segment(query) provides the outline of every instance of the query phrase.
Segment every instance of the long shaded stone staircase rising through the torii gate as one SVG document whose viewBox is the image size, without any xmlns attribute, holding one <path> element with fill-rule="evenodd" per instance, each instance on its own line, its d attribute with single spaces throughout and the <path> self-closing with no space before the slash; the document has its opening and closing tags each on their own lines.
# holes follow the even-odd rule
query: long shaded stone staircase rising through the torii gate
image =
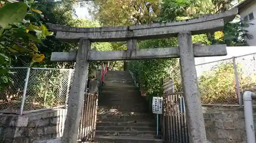
<svg viewBox="0 0 256 143">
<path fill-rule="evenodd" d="M 129 72 L 108 71 L 98 102 L 94 142 L 160 143 L 156 121 Z"/>
</svg>

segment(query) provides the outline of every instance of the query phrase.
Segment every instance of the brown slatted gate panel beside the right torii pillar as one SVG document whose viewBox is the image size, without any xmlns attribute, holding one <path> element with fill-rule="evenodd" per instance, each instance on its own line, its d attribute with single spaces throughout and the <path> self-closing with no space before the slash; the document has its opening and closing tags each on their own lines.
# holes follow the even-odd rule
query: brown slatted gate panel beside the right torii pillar
<svg viewBox="0 0 256 143">
<path fill-rule="evenodd" d="M 163 95 L 163 114 L 161 119 L 165 142 L 189 142 L 185 103 L 182 93 Z"/>
</svg>

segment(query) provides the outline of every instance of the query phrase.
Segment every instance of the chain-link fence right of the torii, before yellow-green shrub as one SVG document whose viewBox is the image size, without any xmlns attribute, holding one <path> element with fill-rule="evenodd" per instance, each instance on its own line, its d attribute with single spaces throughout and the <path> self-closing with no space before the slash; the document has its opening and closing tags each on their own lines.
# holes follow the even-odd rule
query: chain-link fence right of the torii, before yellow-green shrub
<svg viewBox="0 0 256 143">
<path fill-rule="evenodd" d="M 245 90 L 256 88 L 256 53 L 197 65 L 203 104 L 240 104 Z"/>
</svg>

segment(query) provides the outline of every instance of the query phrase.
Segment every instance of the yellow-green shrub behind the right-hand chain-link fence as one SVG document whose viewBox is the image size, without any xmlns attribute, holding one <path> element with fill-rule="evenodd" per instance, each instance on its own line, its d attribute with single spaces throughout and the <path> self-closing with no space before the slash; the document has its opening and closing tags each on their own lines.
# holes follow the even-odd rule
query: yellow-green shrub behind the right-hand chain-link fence
<svg viewBox="0 0 256 143">
<path fill-rule="evenodd" d="M 246 89 L 255 84 L 253 76 L 245 75 L 237 64 L 240 89 Z M 221 63 L 211 68 L 199 78 L 199 89 L 202 103 L 235 104 L 238 102 L 234 69 L 231 62 Z"/>
</svg>

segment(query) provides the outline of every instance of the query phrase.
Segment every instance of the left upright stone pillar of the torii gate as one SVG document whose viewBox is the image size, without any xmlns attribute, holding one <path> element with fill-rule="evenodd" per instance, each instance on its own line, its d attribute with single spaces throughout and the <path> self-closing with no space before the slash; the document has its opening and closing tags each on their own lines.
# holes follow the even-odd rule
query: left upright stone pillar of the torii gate
<svg viewBox="0 0 256 143">
<path fill-rule="evenodd" d="M 62 143 L 77 142 L 78 128 L 80 124 L 84 91 L 87 87 L 88 67 L 87 55 L 91 49 L 91 42 L 88 39 L 80 39 L 77 50 L 74 81 L 69 95 L 69 105 L 65 128 L 62 136 Z"/>
</svg>

